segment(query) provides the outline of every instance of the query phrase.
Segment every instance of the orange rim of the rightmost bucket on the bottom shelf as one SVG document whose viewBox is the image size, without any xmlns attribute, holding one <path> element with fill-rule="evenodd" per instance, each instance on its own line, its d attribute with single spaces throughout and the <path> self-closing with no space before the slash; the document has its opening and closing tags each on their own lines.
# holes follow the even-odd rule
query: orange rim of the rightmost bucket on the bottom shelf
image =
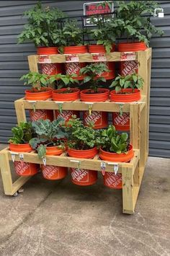
<svg viewBox="0 0 170 256">
<path fill-rule="evenodd" d="M 111 153 L 104 151 L 103 149 L 100 149 L 99 151 L 99 157 L 102 160 L 107 160 L 110 162 L 129 162 L 134 156 L 133 146 L 129 146 L 129 150 L 126 153 Z"/>
</svg>

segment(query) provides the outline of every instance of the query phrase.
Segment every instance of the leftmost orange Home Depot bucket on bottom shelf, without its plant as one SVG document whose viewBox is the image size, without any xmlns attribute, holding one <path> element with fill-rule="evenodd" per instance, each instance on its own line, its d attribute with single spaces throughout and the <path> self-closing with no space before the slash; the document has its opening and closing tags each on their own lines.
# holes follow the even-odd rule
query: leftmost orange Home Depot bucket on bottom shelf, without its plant
<svg viewBox="0 0 170 256">
<path fill-rule="evenodd" d="M 9 144 L 9 150 L 13 152 L 30 152 L 30 144 Z M 19 176 L 33 176 L 38 172 L 39 164 L 32 164 L 23 161 L 14 161 L 14 169 Z"/>
</svg>

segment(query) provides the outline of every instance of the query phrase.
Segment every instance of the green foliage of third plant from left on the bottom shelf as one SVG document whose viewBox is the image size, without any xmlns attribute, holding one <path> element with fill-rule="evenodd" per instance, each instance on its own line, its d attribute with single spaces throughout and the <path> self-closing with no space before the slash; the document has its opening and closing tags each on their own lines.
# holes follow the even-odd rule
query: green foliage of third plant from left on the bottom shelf
<svg viewBox="0 0 170 256">
<path fill-rule="evenodd" d="M 84 126 L 76 116 L 72 116 L 66 124 L 68 133 L 68 148 L 92 149 L 96 144 L 96 133 L 92 126 Z"/>
</svg>

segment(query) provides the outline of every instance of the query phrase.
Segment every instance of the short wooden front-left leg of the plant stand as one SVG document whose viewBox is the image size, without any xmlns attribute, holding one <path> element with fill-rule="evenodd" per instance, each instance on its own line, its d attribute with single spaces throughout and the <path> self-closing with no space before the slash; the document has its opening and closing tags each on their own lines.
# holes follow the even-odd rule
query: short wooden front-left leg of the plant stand
<svg viewBox="0 0 170 256">
<path fill-rule="evenodd" d="M 1 177 L 5 195 L 12 195 L 12 175 L 9 166 L 8 151 L 0 152 Z"/>
</svg>

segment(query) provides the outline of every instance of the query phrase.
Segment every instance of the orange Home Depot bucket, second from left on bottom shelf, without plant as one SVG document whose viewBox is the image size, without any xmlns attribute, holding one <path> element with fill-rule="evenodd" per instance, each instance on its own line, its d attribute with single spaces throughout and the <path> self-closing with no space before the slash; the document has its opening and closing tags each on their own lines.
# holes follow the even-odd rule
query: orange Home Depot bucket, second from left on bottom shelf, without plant
<svg viewBox="0 0 170 256">
<path fill-rule="evenodd" d="M 57 146 L 47 146 L 47 156 L 59 156 L 63 153 L 62 149 L 58 149 Z M 58 167 L 54 165 L 41 165 L 42 175 L 47 180 L 61 180 L 68 174 L 66 167 Z"/>
</svg>

